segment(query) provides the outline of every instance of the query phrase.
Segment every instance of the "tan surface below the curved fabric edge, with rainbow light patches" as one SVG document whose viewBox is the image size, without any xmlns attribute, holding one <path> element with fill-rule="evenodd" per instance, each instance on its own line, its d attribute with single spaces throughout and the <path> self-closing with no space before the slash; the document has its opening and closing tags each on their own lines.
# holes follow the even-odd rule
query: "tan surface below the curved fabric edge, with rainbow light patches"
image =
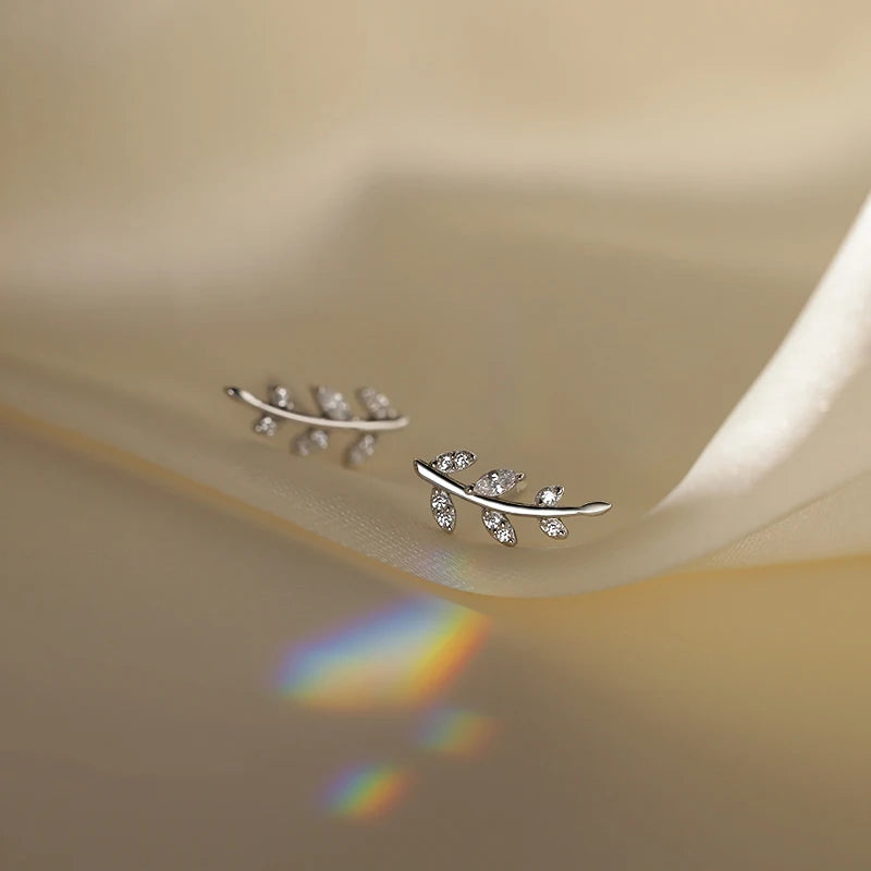
<svg viewBox="0 0 871 871">
<path fill-rule="evenodd" d="M 4 871 L 871 866 L 871 560 L 463 596 L 106 453 L 0 428 Z M 408 792 L 336 818 L 367 762 Z"/>
</svg>

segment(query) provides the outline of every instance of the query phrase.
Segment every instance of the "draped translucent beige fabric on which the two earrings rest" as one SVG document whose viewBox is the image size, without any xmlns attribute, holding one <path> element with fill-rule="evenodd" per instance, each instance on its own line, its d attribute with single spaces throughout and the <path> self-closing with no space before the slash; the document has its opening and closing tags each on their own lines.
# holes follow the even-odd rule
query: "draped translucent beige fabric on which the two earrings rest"
<svg viewBox="0 0 871 871">
<path fill-rule="evenodd" d="M 65 15 L 2 13 L 4 403 L 478 592 L 868 550 L 867 217 L 772 359 L 868 187 L 867 4 Z M 274 376 L 413 427 L 287 457 L 220 392 Z M 450 447 L 615 508 L 446 539 Z"/>
</svg>

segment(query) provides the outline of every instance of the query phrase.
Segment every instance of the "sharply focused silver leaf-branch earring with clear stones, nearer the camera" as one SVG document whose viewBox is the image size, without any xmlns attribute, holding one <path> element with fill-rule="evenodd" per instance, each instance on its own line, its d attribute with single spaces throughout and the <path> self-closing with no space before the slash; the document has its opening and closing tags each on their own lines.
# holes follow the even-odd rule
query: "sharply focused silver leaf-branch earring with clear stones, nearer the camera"
<svg viewBox="0 0 871 871">
<path fill-rule="evenodd" d="M 513 490 L 526 478 L 522 471 L 512 469 L 491 469 L 474 484 L 461 483 L 447 475 L 450 471 L 468 468 L 477 458 L 471 451 L 449 451 L 439 454 L 431 463 L 415 459 L 415 471 L 432 484 L 430 494 L 432 516 L 445 532 L 453 532 L 456 526 L 456 507 L 451 499 L 452 494 L 480 505 L 481 520 L 487 531 L 506 548 L 513 548 L 517 543 L 517 533 L 507 518 L 508 514 L 537 517 L 541 531 L 549 538 L 559 539 L 568 536 L 561 517 L 575 514 L 596 516 L 611 510 L 610 502 L 588 502 L 579 507 L 559 507 L 556 503 L 563 496 L 563 488 L 560 484 L 551 484 L 539 490 L 531 505 L 503 500 L 500 496 Z"/>
</svg>

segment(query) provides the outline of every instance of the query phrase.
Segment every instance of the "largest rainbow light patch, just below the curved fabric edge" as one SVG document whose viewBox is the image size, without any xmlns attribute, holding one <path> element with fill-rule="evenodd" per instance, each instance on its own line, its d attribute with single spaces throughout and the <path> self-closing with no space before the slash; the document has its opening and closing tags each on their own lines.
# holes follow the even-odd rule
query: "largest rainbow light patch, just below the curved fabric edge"
<svg viewBox="0 0 871 871">
<path fill-rule="evenodd" d="M 279 689 L 318 710 L 417 708 L 463 671 L 488 626 L 487 617 L 452 602 L 406 600 L 295 647 Z"/>
</svg>

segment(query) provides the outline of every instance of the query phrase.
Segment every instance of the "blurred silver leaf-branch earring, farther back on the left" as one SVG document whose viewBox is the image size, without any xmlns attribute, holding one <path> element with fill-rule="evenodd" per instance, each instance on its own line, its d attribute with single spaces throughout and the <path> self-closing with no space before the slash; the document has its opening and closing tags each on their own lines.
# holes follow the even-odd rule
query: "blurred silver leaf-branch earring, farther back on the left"
<svg viewBox="0 0 871 871">
<path fill-rule="evenodd" d="M 331 429 L 359 433 L 359 438 L 345 451 L 347 466 L 359 466 L 375 453 L 378 433 L 403 429 L 409 422 L 408 418 L 397 414 L 390 400 L 375 388 L 357 390 L 357 398 L 366 409 L 365 418 L 356 417 L 347 400 L 338 390 L 330 388 L 311 388 L 320 415 L 295 410 L 291 391 L 283 384 L 273 384 L 269 388 L 268 402 L 258 400 L 242 388 L 224 388 L 224 391 L 232 400 L 244 402 L 260 412 L 260 417 L 254 422 L 254 431 L 260 436 L 269 438 L 274 436 L 282 420 L 305 424 L 307 429 L 291 442 L 291 450 L 299 456 L 308 456 L 315 451 L 327 447 L 330 443 Z"/>
</svg>

